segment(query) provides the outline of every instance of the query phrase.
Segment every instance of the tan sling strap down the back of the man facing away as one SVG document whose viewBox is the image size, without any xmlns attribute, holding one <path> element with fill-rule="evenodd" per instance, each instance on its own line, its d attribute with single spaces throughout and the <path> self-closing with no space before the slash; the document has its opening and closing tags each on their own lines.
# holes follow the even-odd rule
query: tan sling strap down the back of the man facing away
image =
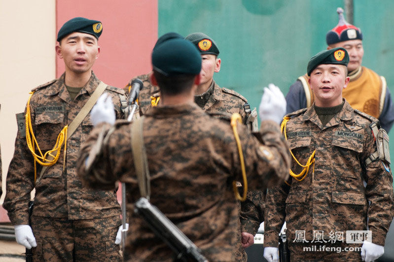
<svg viewBox="0 0 394 262">
<path fill-rule="evenodd" d="M 143 119 L 144 117 L 142 116 L 141 118 L 134 120 L 131 125 L 131 150 L 133 153 L 134 167 L 136 169 L 141 196 L 149 199 L 150 176 L 145 143 L 143 143 Z"/>
</svg>

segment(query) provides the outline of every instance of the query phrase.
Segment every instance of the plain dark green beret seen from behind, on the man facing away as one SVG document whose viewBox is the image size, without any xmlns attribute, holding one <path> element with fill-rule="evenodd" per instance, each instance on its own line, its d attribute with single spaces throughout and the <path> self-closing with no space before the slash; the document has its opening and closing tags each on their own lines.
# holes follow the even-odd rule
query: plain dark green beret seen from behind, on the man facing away
<svg viewBox="0 0 394 262">
<path fill-rule="evenodd" d="M 201 55 L 196 47 L 183 38 L 174 38 L 158 44 L 152 52 L 153 69 L 163 75 L 198 75 Z"/>
</svg>

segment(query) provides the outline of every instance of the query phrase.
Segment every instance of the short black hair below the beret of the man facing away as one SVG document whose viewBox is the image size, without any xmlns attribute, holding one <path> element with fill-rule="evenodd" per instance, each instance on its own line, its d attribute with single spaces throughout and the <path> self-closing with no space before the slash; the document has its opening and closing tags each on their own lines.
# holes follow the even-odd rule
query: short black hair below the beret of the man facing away
<svg viewBox="0 0 394 262">
<path fill-rule="evenodd" d="M 176 74 L 163 75 L 153 69 L 153 75 L 156 78 L 157 84 L 160 87 L 160 92 L 163 95 L 178 95 L 187 92 L 191 89 L 196 75 L 190 74 Z"/>
</svg>

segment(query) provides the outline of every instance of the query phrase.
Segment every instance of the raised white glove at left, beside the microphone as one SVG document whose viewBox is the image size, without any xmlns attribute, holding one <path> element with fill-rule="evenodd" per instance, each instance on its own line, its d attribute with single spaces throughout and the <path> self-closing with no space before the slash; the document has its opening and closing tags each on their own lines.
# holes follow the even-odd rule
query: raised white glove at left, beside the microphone
<svg viewBox="0 0 394 262">
<path fill-rule="evenodd" d="M 116 115 L 112 104 L 112 98 L 108 94 L 102 94 L 90 112 L 90 119 L 94 126 L 105 122 L 113 125 L 115 123 Z"/>
</svg>

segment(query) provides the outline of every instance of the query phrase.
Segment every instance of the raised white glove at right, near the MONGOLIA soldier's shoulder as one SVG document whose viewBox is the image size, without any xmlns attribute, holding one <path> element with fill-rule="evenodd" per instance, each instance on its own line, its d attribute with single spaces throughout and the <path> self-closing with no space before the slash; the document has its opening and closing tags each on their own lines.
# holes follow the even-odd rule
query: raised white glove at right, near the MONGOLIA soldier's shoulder
<svg viewBox="0 0 394 262">
<path fill-rule="evenodd" d="M 264 87 L 258 114 L 261 121 L 269 119 L 278 124 L 282 123 L 283 116 L 286 114 L 286 99 L 278 86 L 269 84 L 268 88 Z"/>
</svg>

